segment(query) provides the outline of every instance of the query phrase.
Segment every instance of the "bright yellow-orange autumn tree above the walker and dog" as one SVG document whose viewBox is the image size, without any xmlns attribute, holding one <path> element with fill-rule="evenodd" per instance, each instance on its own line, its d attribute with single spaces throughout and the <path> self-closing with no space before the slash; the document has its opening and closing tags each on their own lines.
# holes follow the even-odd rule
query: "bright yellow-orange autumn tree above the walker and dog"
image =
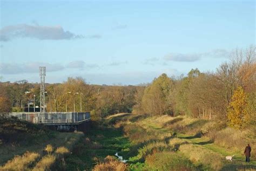
<svg viewBox="0 0 256 171">
<path fill-rule="evenodd" d="M 235 90 L 230 105 L 228 106 L 227 118 L 229 125 L 240 129 L 244 129 L 248 125 L 250 109 L 248 106 L 247 94 L 241 86 Z"/>
</svg>

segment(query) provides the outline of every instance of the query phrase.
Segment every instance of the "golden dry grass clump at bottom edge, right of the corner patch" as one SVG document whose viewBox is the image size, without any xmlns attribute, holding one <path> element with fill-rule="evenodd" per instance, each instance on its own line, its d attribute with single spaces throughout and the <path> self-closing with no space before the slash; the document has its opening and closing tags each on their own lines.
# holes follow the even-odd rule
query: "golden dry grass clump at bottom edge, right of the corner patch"
<svg viewBox="0 0 256 171">
<path fill-rule="evenodd" d="M 55 163 L 56 156 L 48 154 L 45 155 L 32 169 L 32 171 L 43 171 L 43 170 L 50 170 L 53 163 Z"/>
</svg>

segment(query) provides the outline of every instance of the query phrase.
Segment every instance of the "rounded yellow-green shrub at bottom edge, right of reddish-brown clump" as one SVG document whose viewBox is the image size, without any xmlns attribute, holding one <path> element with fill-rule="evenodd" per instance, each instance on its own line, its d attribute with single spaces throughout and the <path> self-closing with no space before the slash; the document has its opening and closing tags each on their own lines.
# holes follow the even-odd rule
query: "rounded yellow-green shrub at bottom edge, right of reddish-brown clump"
<svg viewBox="0 0 256 171">
<path fill-rule="evenodd" d="M 160 152 L 147 156 L 149 170 L 196 170 L 183 155 L 174 152 Z"/>
</svg>

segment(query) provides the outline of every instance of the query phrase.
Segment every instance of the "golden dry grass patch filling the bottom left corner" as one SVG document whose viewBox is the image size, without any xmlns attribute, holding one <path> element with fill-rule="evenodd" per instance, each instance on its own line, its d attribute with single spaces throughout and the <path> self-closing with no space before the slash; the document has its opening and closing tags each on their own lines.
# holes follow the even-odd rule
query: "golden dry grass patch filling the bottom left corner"
<svg viewBox="0 0 256 171">
<path fill-rule="evenodd" d="M 0 170 L 28 170 L 29 166 L 39 158 L 38 153 L 26 152 L 22 156 L 17 155 L 9 160 Z"/>
</svg>

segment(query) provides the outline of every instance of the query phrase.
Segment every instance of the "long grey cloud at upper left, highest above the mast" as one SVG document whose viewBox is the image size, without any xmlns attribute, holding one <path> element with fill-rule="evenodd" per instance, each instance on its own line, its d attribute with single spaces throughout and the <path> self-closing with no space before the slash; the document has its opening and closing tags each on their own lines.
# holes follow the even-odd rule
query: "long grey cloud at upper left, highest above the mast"
<svg viewBox="0 0 256 171">
<path fill-rule="evenodd" d="M 14 38 L 36 38 L 39 40 L 63 40 L 79 38 L 101 38 L 100 35 L 76 35 L 70 31 L 64 31 L 62 26 L 41 26 L 18 24 L 5 26 L 0 30 L 0 41 L 6 42 Z"/>
</svg>

